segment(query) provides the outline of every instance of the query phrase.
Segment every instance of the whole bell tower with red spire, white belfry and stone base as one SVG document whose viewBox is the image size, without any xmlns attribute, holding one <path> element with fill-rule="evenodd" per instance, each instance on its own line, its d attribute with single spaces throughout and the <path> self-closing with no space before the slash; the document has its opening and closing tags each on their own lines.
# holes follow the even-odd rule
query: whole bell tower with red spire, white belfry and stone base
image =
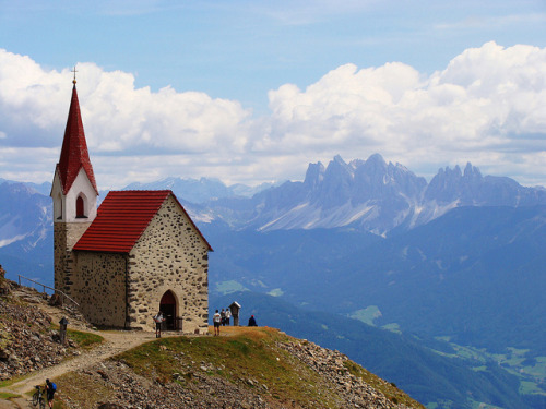
<svg viewBox="0 0 546 409">
<path fill-rule="evenodd" d="M 74 255 L 72 248 L 97 215 L 98 189 L 87 152 L 80 103 L 75 88 L 75 69 L 61 156 L 51 187 L 54 200 L 55 288 L 71 293 Z"/>
</svg>

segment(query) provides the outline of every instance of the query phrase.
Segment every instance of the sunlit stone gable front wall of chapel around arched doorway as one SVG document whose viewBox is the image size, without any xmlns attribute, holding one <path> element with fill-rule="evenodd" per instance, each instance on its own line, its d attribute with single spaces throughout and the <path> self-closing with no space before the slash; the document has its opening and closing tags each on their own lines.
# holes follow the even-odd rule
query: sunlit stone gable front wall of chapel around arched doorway
<svg viewBox="0 0 546 409">
<path fill-rule="evenodd" d="M 152 317 L 167 290 L 177 299 L 185 333 L 207 333 L 209 253 L 169 195 L 129 254 L 130 326 L 153 329 Z"/>
</svg>

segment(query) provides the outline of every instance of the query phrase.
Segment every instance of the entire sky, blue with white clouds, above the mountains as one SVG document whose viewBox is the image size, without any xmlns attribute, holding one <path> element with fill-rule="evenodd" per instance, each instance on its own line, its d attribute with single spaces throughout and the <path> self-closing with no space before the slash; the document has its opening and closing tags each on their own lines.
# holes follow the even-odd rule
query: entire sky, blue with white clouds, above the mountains
<svg viewBox="0 0 546 409">
<path fill-rule="evenodd" d="M 0 0 L 0 178 L 50 182 L 73 73 L 99 189 L 379 153 L 546 187 L 546 1 Z"/>
</svg>

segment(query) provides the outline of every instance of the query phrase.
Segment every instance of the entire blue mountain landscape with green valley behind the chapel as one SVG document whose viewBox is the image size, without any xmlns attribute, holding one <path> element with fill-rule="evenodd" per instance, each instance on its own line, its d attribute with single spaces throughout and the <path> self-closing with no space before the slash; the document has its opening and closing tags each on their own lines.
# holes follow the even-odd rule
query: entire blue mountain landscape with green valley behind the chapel
<svg viewBox="0 0 546 409">
<path fill-rule="evenodd" d="M 51 204 L 44 195 L 49 189 L 0 181 L 0 264 L 12 279 L 22 274 L 52 284 Z M 471 164 L 440 169 L 427 182 L 376 154 L 348 164 L 340 156 L 328 166 L 310 164 L 304 181 L 254 191 L 205 178 L 126 189 L 176 193 L 215 250 L 211 300 L 250 290 L 301 311 L 335 314 L 340 337 L 355 328 L 366 333 L 364 322 L 453 359 L 480 357 L 486 364 L 474 370 L 490 382 L 500 376 L 497 369 L 510 375 L 490 389 L 500 400 L 484 397 L 490 405 L 546 405 L 544 188 L 484 177 Z M 251 303 L 271 325 L 295 330 L 294 316 L 285 315 L 284 324 L 274 320 L 268 310 L 273 302 Z M 334 321 L 323 324 L 332 328 Z M 361 338 L 351 337 L 352 346 L 340 348 L 356 354 Z M 427 362 L 423 373 L 442 371 L 435 360 L 417 360 L 419 368 Z M 406 364 L 392 363 L 392 372 L 405 373 Z M 407 378 L 400 382 L 411 394 L 425 390 L 406 385 Z M 438 404 L 427 390 L 419 398 Z M 438 408 L 472 407 L 458 394 L 448 400 L 452 406 Z"/>
</svg>

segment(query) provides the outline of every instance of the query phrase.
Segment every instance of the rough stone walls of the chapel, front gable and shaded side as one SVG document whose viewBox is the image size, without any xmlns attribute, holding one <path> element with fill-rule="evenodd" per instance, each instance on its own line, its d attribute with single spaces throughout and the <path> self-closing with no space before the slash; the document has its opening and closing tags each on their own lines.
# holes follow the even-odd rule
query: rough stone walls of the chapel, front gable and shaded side
<svg viewBox="0 0 546 409">
<path fill-rule="evenodd" d="M 162 297 L 170 290 L 183 333 L 207 332 L 209 246 L 173 195 L 165 200 L 129 254 L 63 253 L 62 240 L 69 234 L 62 234 L 62 225 L 56 224 L 56 263 L 64 261 L 67 269 L 59 280 L 90 322 L 153 329 L 152 317 L 159 310 Z"/>
</svg>

